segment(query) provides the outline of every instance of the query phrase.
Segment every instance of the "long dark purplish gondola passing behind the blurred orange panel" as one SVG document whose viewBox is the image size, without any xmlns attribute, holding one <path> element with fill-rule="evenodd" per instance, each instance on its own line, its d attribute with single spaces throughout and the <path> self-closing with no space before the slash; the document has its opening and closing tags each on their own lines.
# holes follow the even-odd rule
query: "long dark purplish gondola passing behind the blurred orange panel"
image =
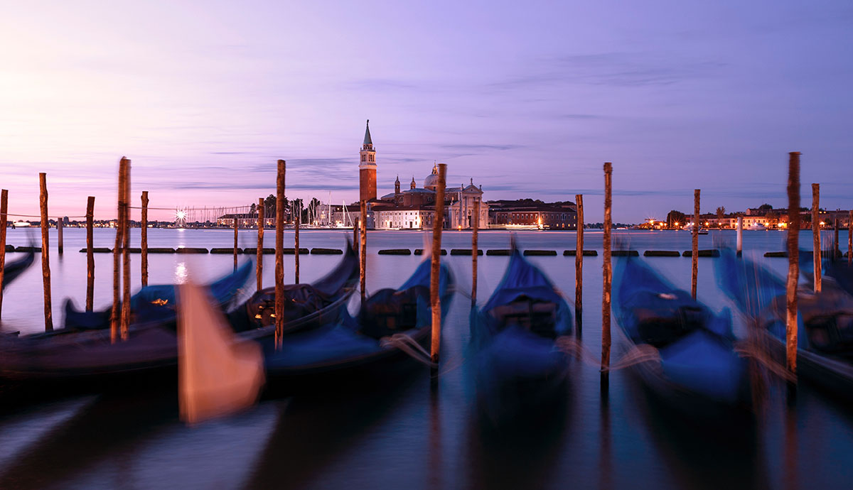
<svg viewBox="0 0 853 490">
<path fill-rule="evenodd" d="M 314 283 L 320 291 L 328 293 L 325 301 L 314 303 L 318 309 L 313 311 L 299 305 L 303 316 L 287 322 L 285 331 L 305 330 L 309 325 L 317 326 L 322 320 L 339 314 L 341 305 L 351 296 L 352 285 L 358 276 L 357 266 L 354 253 L 348 251 L 332 272 Z M 333 291 L 335 286 L 338 289 Z M 268 308 L 263 294 L 256 296 L 255 299 L 262 299 L 254 303 L 250 299 L 241 305 L 241 314 L 232 317 L 239 318 L 250 311 L 258 311 L 251 310 L 252 307 L 259 307 L 261 311 Z M 286 297 L 285 304 L 288 308 L 299 304 L 299 298 Z M 256 316 L 264 319 L 263 314 L 252 313 L 252 320 L 258 320 Z M 260 322 L 252 327 L 249 320 L 243 321 L 237 328 L 238 337 L 257 340 L 271 337 L 275 332 L 275 326 Z M 127 340 L 114 344 L 110 341 L 108 329 L 69 331 L 66 335 L 44 332 L 21 337 L 0 336 L 0 378 L 18 383 L 51 380 L 94 383 L 103 388 L 108 388 L 114 378 L 137 374 L 148 377 L 154 372 L 165 372 L 174 378 L 177 366 L 174 323 L 132 324 L 129 333 Z"/>
</svg>

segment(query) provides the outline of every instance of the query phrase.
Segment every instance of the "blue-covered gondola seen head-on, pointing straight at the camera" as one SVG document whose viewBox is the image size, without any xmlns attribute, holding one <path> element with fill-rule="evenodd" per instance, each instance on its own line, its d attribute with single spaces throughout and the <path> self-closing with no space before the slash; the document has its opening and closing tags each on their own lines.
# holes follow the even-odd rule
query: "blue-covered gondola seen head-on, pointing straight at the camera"
<svg viewBox="0 0 853 490">
<path fill-rule="evenodd" d="M 513 247 L 507 270 L 482 308 L 472 311 L 471 349 L 481 412 L 495 424 L 565 394 L 572 312 L 554 284 Z"/>
</svg>

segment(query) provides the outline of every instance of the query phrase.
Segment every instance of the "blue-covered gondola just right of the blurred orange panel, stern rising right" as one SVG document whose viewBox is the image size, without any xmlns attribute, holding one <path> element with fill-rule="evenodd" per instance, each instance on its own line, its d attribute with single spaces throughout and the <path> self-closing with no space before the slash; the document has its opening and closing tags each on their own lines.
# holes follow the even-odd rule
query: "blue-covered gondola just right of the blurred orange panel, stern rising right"
<svg viewBox="0 0 853 490">
<path fill-rule="evenodd" d="M 370 379 L 392 374 L 401 360 L 415 356 L 431 334 L 431 261 L 425 260 L 403 285 L 376 291 L 355 316 L 342 308 L 339 321 L 284 337 L 276 349 L 262 340 L 264 368 L 270 389 L 302 389 L 343 379 Z M 439 274 L 442 320 L 453 298 L 453 276 L 444 264 Z M 368 372 L 369 376 L 365 376 Z"/>
</svg>

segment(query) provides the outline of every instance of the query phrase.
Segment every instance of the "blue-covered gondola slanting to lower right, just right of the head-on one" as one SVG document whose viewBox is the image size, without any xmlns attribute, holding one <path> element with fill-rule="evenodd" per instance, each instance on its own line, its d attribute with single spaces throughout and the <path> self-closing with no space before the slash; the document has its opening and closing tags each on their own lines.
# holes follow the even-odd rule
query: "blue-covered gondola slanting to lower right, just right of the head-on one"
<svg viewBox="0 0 853 490">
<path fill-rule="evenodd" d="M 616 265 L 618 336 L 637 354 L 631 369 L 647 389 L 693 420 L 748 413 L 749 363 L 735 352 L 728 308 L 715 314 L 639 258 Z"/>
</svg>

